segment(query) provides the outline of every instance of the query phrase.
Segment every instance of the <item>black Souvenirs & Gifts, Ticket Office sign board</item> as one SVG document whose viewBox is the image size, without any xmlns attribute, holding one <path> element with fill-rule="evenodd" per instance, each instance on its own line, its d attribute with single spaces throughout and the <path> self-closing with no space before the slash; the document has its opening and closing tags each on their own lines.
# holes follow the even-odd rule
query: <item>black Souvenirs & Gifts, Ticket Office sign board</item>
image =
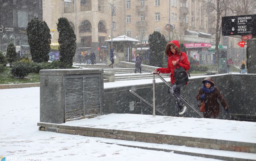
<svg viewBox="0 0 256 161">
<path fill-rule="evenodd" d="M 256 15 L 222 17 L 222 35 L 256 35 Z"/>
</svg>

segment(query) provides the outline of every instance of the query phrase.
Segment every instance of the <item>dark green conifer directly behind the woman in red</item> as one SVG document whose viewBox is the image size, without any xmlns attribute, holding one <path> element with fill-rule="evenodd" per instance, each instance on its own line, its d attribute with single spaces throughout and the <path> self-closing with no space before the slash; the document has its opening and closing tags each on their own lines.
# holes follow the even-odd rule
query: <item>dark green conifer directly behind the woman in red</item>
<svg viewBox="0 0 256 161">
<path fill-rule="evenodd" d="M 150 66 L 163 67 L 164 50 L 167 44 L 165 36 L 160 32 L 154 31 L 148 37 L 150 47 L 149 64 Z"/>
</svg>

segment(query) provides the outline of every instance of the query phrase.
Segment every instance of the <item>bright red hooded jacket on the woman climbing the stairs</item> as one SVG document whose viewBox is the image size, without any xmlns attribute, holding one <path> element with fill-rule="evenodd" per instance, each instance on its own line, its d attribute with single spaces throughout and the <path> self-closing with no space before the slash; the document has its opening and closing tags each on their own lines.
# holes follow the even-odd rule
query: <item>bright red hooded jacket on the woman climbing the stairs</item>
<svg viewBox="0 0 256 161">
<path fill-rule="evenodd" d="M 178 40 L 170 41 L 170 43 L 173 43 L 176 47 L 178 47 L 180 49 L 180 44 L 179 44 Z M 186 53 L 180 51 L 180 54 L 181 54 L 181 60 L 180 60 L 180 55 L 177 53 L 177 51 L 175 53 L 172 53 L 171 49 L 168 49 L 169 57 L 168 57 L 167 68 L 158 68 L 157 69 L 158 71 L 160 71 L 160 73 L 171 73 L 171 84 L 174 84 L 174 82 L 175 82 L 175 78 L 174 78 L 174 69 L 175 68 L 179 68 L 181 66 L 186 71 L 189 70 L 189 68 L 190 68 L 190 64 L 187 59 Z M 180 63 L 179 63 L 179 60 L 180 60 Z M 177 62 L 176 66 L 173 65 L 172 61 Z"/>
</svg>

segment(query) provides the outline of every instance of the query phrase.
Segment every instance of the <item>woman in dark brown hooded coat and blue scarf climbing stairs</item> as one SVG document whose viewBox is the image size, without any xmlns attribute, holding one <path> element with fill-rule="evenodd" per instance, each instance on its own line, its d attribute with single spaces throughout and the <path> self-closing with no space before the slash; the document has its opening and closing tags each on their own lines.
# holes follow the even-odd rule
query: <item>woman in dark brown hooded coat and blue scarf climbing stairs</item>
<svg viewBox="0 0 256 161">
<path fill-rule="evenodd" d="M 217 98 L 221 102 L 224 110 L 229 113 L 229 106 L 221 95 L 219 88 L 214 86 L 214 82 L 211 77 L 206 77 L 202 80 L 203 86 L 199 88 L 198 94 L 196 96 L 198 101 L 204 100 L 205 102 L 205 112 L 204 118 L 216 118 L 219 115 L 220 105 Z"/>
</svg>

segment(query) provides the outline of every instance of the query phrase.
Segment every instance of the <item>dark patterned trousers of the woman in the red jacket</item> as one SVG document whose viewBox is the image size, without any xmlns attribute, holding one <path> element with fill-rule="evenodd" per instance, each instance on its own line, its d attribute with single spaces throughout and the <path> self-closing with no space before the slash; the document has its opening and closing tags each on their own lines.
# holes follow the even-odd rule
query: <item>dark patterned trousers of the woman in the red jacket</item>
<svg viewBox="0 0 256 161">
<path fill-rule="evenodd" d="M 176 108 L 178 110 L 181 110 L 182 109 L 182 99 L 181 99 L 181 96 L 180 96 L 180 90 L 181 88 L 184 86 L 185 84 L 179 84 L 179 85 L 176 85 L 175 83 L 173 84 L 173 86 L 170 87 L 170 93 L 171 95 L 174 97 L 175 99 L 175 102 L 176 102 Z"/>
</svg>

